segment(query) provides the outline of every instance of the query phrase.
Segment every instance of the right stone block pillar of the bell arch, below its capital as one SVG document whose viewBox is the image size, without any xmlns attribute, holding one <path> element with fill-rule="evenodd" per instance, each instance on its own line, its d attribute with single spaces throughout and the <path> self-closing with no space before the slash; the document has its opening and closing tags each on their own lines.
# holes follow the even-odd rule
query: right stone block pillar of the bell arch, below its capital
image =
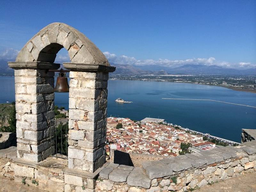
<svg viewBox="0 0 256 192">
<path fill-rule="evenodd" d="M 68 168 L 94 172 L 105 163 L 108 72 L 69 73 Z"/>
</svg>

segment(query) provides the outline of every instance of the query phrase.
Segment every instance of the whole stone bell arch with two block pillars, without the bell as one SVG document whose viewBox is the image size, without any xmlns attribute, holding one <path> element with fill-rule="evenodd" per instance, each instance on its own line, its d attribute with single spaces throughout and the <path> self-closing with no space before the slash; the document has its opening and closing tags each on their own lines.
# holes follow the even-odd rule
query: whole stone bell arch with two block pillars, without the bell
<svg viewBox="0 0 256 192">
<path fill-rule="evenodd" d="M 94 172 L 105 163 L 108 73 L 115 71 L 84 34 L 64 23 L 40 30 L 21 49 L 15 62 L 18 158 L 40 162 L 55 153 L 50 120 L 54 119 L 56 54 L 68 50 L 68 168 Z"/>
</svg>

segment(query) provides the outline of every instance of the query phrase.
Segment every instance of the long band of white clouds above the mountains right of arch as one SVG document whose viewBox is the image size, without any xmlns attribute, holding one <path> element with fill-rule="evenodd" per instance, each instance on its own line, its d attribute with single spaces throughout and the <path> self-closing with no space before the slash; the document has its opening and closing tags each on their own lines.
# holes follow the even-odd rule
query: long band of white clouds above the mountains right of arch
<svg viewBox="0 0 256 192">
<path fill-rule="evenodd" d="M 146 59 L 146 60 L 137 60 L 134 57 L 128 57 L 125 55 L 116 56 L 116 54 L 103 52 L 103 54 L 107 57 L 108 61 L 115 64 L 130 64 L 136 66 L 145 66 L 145 65 L 161 65 L 164 67 L 179 67 L 185 64 L 194 64 L 194 65 L 217 65 L 225 68 L 255 68 L 255 64 L 251 63 L 229 63 L 226 61 L 216 61 L 214 57 L 209 58 L 193 58 L 186 60 L 168 60 L 168 59 Z"/>
</svg>

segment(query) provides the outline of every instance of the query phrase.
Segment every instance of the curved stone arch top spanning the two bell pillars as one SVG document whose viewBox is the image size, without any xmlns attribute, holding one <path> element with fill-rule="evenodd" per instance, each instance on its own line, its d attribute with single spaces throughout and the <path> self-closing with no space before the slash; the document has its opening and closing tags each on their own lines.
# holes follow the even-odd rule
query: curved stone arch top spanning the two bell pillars
<svg viewBox="0 0 256 192">
<path fill-rule="evenodd" d="M 110 66 L 104 54 L 84 34 L 64 23 L 41 29 L 21 49 L 15 62 L 53 63 L 60 49 L 68 50 L 71 63 Z"/>
</svg>

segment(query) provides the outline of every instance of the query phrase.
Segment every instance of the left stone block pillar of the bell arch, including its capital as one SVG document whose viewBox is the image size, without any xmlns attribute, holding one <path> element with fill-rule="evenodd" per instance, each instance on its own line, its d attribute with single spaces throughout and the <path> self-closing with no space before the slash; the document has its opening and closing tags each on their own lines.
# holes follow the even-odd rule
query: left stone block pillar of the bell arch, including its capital
<svg viewBox="0 0 256 192">
<path fill-rule="evenodd" d="M 49 126 L 54 118 L 54 72 L 42 69 L 40 62 L 29 64 L 9 63 L 15 69 L 17 157 L 39 162 L 54 153 Z"/>
</svg>

